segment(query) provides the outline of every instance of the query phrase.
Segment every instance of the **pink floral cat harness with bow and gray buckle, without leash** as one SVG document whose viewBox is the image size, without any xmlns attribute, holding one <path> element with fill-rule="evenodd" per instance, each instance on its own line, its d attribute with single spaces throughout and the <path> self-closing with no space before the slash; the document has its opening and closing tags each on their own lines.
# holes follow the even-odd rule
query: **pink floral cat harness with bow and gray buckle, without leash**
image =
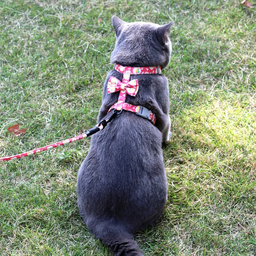
<svg viewBox="0 0 256 256">
<path fill-rule="evenodd" d="M 139 89 L 138 79 L 133 79 L 130 81 L 131 75 L 142 75 L 142 74 L 159 74 L 160 75 L 162 73 L 161 67 L 158 66 L 158 67 L 133 68 L 133 67 L 123 67 L 116 63 L 114 68 L 116 69 L 116 71 L 123 73 L 124 75 L 123 75 L 122 82 L 114 76 L 110 76 L 108 80 L 108 93 L 120 91 L 118 101 L 109 108 L 108 112 L 113 108 L 116 110 L 124 109 L 126 111 L 134 112 L 136 115 L 144 117 L 148 119 L 150 122 L 152 122 L 153 124 L 155 124 L 156 123 L 155 114 L 153 114 L 150 110 L 148 110 L 145 107 L 128 104 L 125 102 L 125 100 L 126 100 L 127 93 L 135 97 Z"/>
</svg>

